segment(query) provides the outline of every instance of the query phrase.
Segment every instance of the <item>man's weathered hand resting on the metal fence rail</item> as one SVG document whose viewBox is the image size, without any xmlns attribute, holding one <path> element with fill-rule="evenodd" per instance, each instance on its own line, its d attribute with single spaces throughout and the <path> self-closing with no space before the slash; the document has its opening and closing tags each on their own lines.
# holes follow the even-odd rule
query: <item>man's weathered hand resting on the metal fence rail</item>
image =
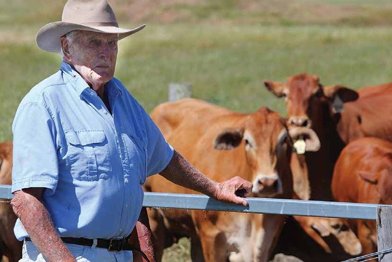
<svg viewBox="0 0 392 262">
<path fill-rule="evenodd" d="M 253 185 L 250 181 L 239 176 L 234 176 L 229 180 L 218 183 L 215 198 L 221 201 L 247 206 L 248 201 L 244 197 L 252 193 L 252 188 Z"/>
</svg>

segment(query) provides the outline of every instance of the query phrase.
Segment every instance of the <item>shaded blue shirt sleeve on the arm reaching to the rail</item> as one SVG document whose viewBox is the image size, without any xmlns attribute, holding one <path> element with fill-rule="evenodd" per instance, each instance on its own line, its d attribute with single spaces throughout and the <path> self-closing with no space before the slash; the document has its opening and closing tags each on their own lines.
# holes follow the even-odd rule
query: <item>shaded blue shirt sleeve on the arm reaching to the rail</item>
<svg viewBox="0 0 392 262">
<path fill-rule="evenodd" d="M 151 117 L 141 109 L 147 135 L 147 176 L 164 170 L 174 154 L 174 149 L 168 144 L 161 131 Z"/>
</svg>

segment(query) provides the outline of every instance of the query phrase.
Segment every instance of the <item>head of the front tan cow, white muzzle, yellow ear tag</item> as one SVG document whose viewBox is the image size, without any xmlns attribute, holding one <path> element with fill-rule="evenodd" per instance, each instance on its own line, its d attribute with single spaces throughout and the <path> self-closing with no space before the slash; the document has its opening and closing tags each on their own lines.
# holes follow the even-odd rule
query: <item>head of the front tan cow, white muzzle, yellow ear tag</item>
<svg viewBox="0 0 392 262">
<path fill-rule="evenodd" d="M 289 161 L 293 141 L 299 137 L 305 138 L 306 150 L 318 150 L 320 142 L 314 131 L 309 128 L 288 131 L 285 119 L 263 107 L 236 126 L 224 129 L 216 137 L 214 148 L 243 150 L 238 154 L 241 157 L 238 162 L 246 164 L 236 172 L 252 174 L 248 179 L 252 179 L 255 196 L 273 197 L 284 192 L 291 198 Z"/>
</svg>

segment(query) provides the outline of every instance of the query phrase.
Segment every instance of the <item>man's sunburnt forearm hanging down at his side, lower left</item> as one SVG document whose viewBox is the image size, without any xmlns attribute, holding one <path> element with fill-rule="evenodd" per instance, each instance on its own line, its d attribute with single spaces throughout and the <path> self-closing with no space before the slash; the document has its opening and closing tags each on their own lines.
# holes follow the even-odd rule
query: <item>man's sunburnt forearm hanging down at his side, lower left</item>
<svg viewBox="0 0 392 262">
<path fill-rule="evenodd" d="M 34 196 L 17 191 L 12 207 L 36 248 L 49 262 L 75 262 L 58 236 L 45 206 Z"/>
</svg>

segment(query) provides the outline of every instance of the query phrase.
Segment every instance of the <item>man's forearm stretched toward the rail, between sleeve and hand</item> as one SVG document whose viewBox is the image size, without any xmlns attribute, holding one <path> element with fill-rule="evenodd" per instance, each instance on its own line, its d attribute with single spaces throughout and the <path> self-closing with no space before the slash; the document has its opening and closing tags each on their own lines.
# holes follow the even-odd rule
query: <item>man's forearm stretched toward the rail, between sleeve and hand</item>
<svg viewBox="0 0 392 262">
<path fill-rule="evenodd" d="M 210 197 L 216 197 L 219 187 L 217 182 L 212 181 L 203 175 L 177 151 L 174 151 L 173 158 L 160 175 L 175 184 L 187 187 Z"/>
</svg>

